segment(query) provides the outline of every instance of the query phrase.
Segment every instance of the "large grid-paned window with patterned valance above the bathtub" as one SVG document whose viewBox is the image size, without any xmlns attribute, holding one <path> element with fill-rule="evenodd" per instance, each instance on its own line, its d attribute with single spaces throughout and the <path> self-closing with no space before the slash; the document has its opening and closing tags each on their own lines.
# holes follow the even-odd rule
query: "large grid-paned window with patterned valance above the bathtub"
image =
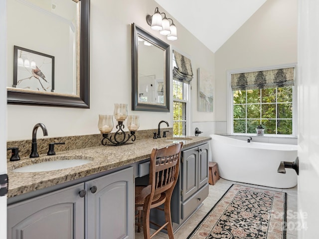
<svg viewBox="0 0 319 239">
<path fill-rule="evenodd" d="M 229 132 L 295 135 L 296 65 L 228 73 L 230 82 Z"/>
</svg>

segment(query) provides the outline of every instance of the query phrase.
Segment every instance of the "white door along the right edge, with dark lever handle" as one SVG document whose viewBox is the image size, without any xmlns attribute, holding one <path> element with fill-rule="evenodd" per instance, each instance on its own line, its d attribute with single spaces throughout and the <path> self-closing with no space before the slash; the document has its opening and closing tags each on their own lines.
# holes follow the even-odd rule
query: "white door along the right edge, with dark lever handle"
<svg viewBox="0 0 319 239">
<path fill-rule="evenodd" d="M 315 239 L 319 238 L 319 1 L 299 0 L 299 16 L 298 238 Z"/>
</svg>

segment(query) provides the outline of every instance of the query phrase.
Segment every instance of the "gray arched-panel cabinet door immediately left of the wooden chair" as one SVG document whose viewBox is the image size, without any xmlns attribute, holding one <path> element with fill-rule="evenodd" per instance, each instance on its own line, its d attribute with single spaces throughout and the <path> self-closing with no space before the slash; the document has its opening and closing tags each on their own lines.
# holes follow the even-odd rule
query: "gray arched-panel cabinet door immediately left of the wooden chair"
<svg viewBox="0 0 319 239">
<path fill-rule="evenodd" d="M 134 238 L 133 177 L 130 167 L 85 183 L 87 239 Z"/>
</svg>

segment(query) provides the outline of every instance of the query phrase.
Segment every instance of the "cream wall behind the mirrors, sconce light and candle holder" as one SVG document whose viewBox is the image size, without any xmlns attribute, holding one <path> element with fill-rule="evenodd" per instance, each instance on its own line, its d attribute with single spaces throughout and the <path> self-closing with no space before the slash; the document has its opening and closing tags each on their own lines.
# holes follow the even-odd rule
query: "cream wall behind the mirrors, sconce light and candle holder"
<svg viewBox="0 0 319 239">
<path fill-rule="evenodd" d="M 191 56 L 194 79 L 191 83 L 192 119 L 209 121 L 214 113 L 197 113 L 196 69 L 214 71 L 214 54 L 174 20 L 178 40 L 168 41 L 151 30 L 146 15 L 158 6 L 153 0 L 91 0 L 90 27 L 90 109 L 8 105 L 7 140 L 30 139 L 37 122 L 46 125 L 48 136 L 99 133 L 99 114 L 113 114 L 114 103 L 127 103 L 129 114 L 140 115 L 140 129 L 157 128 L 161 119 L 172 125 L 170 113 L 131 111 L 131 24 L 135 22 L 156 37 Z M 38 133 L 41 136 L 41 132 Z"/>
</svg>

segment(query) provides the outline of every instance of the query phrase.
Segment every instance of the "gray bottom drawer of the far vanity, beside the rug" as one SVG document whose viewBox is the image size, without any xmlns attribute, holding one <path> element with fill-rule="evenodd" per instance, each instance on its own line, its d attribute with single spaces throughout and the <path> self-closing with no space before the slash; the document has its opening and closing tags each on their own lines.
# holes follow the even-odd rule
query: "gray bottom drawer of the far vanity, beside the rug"
<svg viewBox="0 0 319 239">
<path fill-rule="evenodd" d="M 206 183 L 198 192 L 181 204 L 181 219 L 184 220 L 188 218 L 207 196 L 208 184 Z"/>
</svg>

